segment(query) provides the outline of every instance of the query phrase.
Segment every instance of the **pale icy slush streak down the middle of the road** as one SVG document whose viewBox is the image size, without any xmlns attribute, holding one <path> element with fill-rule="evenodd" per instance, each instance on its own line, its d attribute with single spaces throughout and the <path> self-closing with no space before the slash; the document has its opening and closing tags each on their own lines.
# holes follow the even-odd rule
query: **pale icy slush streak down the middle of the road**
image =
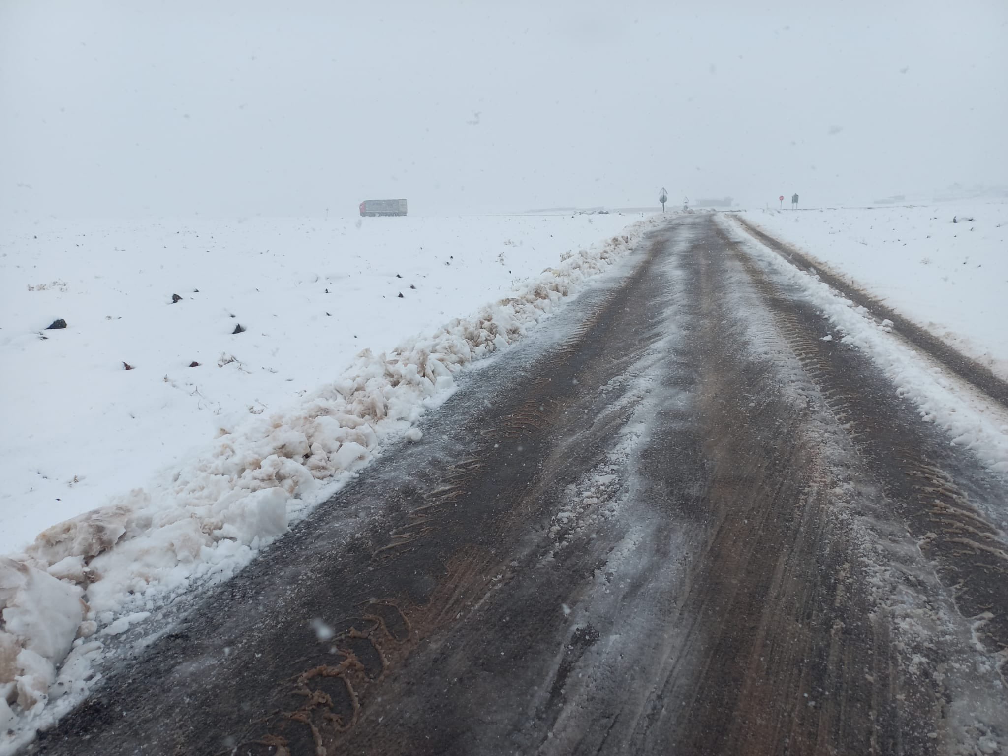
<svg viewBox="0 0 1008 756">
<path fill-rule="evenodd" d="M 688 226 L 676 228 L 673 252 L 688 248 L 689 231 Z M 678 259 L 679 255 L 673 254 L 664 268 L 681 292 Z M 576 593 L 577 600 L 560 607 L 572 638 L 591 629 L 598 640 L 580 651 L 577 668 L 570 669 L 563 681 L 563 703 L 547 734 L 554 750 L 577 750 L 584 745 L 585 718 L 594 716 L 599 701 L 633 699 L 635 705 L 628 708 L 640 711 L 643 699 L 653 691 L 650 685 L 625 688 L 627 664 L 631 662 L 624 654 L 627 643 L 651 649 L 642 657 L 667 659 L 671 655 L 667 647 L 677 640 L 666 632 L 674 607 L 670 589 L 680 584 L 681 554 L 687 549 L 680 532 L 668 532 L 662 526 L 668 513 L 660 511 L 660 504 L 656 507 L 642 456 L 656 438 L 674 435 L 678 422 L 692 411 L 691 397 L 671 379 L 679 369 L 676 345 L 686 333 L 677 304 L 681 300 L 677 295 L 671 297 L 663 312 L 659 328 L 664 338 L 628 370 L 598 388 L 598 397 L 605 401 L 601 421 L 606 415 L 629 416 L 602 461 L 568 487 L 549 523 L 551 543 L 540 566 L 551 571 L 554 560 L 562 563 L 565 556 L 578 559 L 578 554 L 566 550 L 578 542 L 581 546 L 575 549 L 580 554 L 584 553 L 582 548 L 588 548 L 599 557 L 594 562 L 597 566 L 584 575 L 584 593 Z M 604 535 L 596 541 L 600 532 Z M 654 554 L 666 551 L 669 558 L 654 559 Z M 636 603 L 641 596 L 646 598 Z M 627 611 L 631 606 L 634 611 Z M 557 648 L 544 679 L 558 680 L 561 665 L 569 658 L 566 645 Z M 551 697 L 547 685 L 532 690 L 529 711 L 544 710 L 551 705 Z"/>
</svg>

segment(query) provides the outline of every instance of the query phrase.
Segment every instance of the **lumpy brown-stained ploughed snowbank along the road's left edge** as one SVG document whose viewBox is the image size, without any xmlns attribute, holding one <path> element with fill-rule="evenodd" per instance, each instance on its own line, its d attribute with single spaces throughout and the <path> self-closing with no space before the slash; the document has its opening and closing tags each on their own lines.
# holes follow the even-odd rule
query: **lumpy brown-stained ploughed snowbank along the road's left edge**
<svg viewBox="0 0 1008 756">
<path fill-rule="evenodd" d="M 210 450 L 154 485 L 50 527 L 25 553 L 0 560 L 0 725 L 21 717 L 36 728 L 58 716 L 52 702 L 90 684 L 100 643 L 89 638 L 122 633 L 195 583 L 232 575 L 381 444 L 418 439 L 412 423 L 444 400 L 454 373 L 521 337 L 658 222 L 568 253 L 511 296 L 428 337 L 388 353 L 364 350 L 294 406 L 222 426 Z"/>
</svg>

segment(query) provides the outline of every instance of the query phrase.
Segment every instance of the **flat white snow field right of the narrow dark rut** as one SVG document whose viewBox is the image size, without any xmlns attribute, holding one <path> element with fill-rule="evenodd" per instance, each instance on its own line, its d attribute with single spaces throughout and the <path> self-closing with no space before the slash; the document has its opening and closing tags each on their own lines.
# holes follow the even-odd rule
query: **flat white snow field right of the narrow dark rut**
<svg viewBox="0 0 1008 756">
<path fill-rule="evenodd" d="M 1008 202 L 743 216 L 1008 379 Z"/>
</svg>

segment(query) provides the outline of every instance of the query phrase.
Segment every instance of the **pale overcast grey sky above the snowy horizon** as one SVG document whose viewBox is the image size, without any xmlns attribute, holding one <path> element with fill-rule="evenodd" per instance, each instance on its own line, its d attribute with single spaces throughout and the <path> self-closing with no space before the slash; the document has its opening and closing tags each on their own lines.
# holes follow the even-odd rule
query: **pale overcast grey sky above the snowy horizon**
<svg viewBox="0 0 1008 756">
<path fill-rule="evenodd" d="M 866 202 L 1006 123 L 1004 0 L 0 0 L 4 217 Z"/>
</svg>

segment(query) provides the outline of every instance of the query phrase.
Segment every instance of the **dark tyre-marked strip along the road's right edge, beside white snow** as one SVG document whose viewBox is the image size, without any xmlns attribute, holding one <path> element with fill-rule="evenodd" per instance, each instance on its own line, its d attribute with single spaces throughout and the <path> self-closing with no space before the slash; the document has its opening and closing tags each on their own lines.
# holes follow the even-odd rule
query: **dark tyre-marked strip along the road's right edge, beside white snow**
<svg viewBox="0 0 1008 756">
<path fill-rule="evenodd" d="M 964 617 L 980 623 L 988 650 L 1008 654 L 1008 537 L 970 502 L 972 491 L 1003 505 L 1000 481 L 951 450 L 852 348 L 820 340 L 803 325 L 816 320 L 809 305 L 782 296 L 752 258 L 740 253 L 740 260 L 865 466 L 936 562 Z"/>
</svg>

